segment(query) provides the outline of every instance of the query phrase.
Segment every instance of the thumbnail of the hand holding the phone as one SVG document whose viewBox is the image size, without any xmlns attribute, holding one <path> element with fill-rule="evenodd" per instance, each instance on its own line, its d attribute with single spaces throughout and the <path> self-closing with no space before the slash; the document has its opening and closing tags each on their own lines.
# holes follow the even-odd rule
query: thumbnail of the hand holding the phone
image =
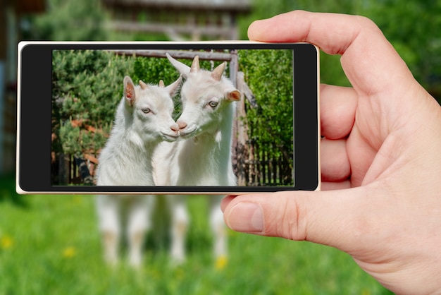
<svg viewBox="0 0 441 295">
<path fill-rule="evenodd" d="M 254 203 L 238 203 L 231 208 L 227 224 L 235 231 L 263 231 L 262 208 Z"/>
</svg>

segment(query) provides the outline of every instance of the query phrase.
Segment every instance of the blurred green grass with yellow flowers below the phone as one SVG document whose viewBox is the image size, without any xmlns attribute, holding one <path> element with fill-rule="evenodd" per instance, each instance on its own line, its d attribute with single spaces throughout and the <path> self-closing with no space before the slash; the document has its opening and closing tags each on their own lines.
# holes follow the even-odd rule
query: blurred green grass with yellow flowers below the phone
<svg viewBox="0 0 441 295">
<path fill-rule="evenodd" d="M 190 198 L 187 261 L 147 243 L 142 269 L 102 260 L 94 197 L 15 195 L 0 179 L 3 294 L 390 294 L 349 255 L 321 245 L 228 231 L 223 268 L 211 257 L 204 197 Z"/>
</svg>

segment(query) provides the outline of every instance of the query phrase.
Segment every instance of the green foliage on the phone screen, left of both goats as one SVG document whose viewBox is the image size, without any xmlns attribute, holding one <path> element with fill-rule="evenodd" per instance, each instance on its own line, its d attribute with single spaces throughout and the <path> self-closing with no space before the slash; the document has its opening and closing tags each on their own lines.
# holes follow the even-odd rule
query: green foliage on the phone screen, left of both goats
<svg viewBox="0 0 441 295">
<path fill-rule="evenodd" d="M 102 148 L 132 64 L 132 57 L 105 51 L 54 52 L 52 132 L 61 141 L 54 143 L 55 152 L 96 154 Z"/>
</svg>

